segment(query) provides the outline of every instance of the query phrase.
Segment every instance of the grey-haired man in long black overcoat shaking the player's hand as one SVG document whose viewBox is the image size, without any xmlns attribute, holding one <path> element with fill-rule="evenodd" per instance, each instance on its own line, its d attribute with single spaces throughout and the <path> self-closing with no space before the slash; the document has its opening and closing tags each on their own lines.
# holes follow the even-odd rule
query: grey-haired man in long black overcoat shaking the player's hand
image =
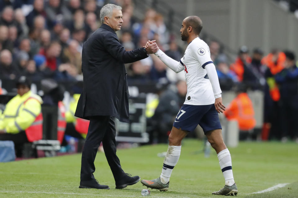
<svg viewBox="0 0 298 198">
<path fill-rule="evenodd" d="M 158 47 L 154 42 L 147 49 L 125 51 L 115 33 L 123 23 L 121 9 L 114 4 L 103 6 L 100 11 L 102 26 L 83 46 L 84 89 L 75 116 L 89 119 L 90 124 L 82 153 L 80 188 L 109 189 L 106 185 L 100 185 L 93 175 L 94 160 L 101 142 L 117 189 L 140 180 L 139 176 L 130 177 L 130 174 L 121 169 L 116 155 L 114 117 L 129 122 L 129 91 L 124 63 L 147 58 Z"/>
</svg>

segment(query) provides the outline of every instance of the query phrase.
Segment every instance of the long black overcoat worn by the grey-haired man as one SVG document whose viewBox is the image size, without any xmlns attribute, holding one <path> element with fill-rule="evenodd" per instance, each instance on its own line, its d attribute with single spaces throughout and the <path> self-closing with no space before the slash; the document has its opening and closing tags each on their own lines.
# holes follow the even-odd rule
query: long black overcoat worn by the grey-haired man
<svg viewBox="0 0 298 198">
<path fill-rule="evenodd" d="M 102 24 L 84 42 L 82 51 L 83 92 L 75 116 L 110 115 L 129 122 L 128 85 L 124 63 L 147 58 L 145 48 L 125 51 L 116 32 Z"/>
</svg>

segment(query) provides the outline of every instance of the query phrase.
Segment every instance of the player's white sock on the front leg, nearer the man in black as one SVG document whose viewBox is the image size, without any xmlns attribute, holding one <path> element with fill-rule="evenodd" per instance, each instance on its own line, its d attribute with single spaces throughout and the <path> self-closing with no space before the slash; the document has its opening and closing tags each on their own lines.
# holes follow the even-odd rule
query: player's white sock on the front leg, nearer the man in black
<svg viewBox="0 0 298 198">
<path fill-rule="evenodd" d="M 179 160 L 180 151 L 181 146 L 169 146 L 160 175 L 161 183 L 166 184 L 169 182 L 173 168 Z"/>
</svg>

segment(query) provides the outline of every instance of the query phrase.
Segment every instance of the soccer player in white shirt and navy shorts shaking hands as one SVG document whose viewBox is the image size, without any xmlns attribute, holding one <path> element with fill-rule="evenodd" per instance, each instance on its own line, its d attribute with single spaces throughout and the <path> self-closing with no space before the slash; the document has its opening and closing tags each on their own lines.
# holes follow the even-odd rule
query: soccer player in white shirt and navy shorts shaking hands
<svg viewBox="0 0 298 198">
<path fill-rule="evenodd" d="M 224 144 L 218 113 L 223 113 L 221 89 L 215 66 L 210 58 L 208 45 L 199 34 L 202 21 L 197 16 L 188 16 L 182 22 L 181 39 L 188 46 L 180 62 L 169 58 L 160 49 L 155 55 L 176 73 L 183 71 L 187 82 L 187 95 L 178 112 L 169 135 L 169 147 L 165 156 L 159 178 L 142 180 L 147 187 L 167 191 L 169 179 L 174 166 L 180 157 L 181 141 L 199 124 L 219 159 L 220 169 L 224 174 L 225 186 L 214 195 L 237 195 L 238 190 L 232 172 L 232 160 L 229 150 Z M 146 47 L 152 43 L 148 41 Z"/>
</svg>

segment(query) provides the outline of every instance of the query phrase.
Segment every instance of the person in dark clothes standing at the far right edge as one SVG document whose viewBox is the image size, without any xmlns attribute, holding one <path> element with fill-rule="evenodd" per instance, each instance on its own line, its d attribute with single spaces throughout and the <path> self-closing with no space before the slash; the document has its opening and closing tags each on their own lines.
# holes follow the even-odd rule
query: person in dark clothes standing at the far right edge
<svg viewBox="0 0 298 198">
<path fill-rule="evenodd" d="M 298 68 L 295 64 L 295 55 L 291 51 L 285 51 L 286 59 L 284 69 L 275 75 L 275 80 L 280 89 L 282 142 L 288 138 L 298 141 Z"/>
</svg>

